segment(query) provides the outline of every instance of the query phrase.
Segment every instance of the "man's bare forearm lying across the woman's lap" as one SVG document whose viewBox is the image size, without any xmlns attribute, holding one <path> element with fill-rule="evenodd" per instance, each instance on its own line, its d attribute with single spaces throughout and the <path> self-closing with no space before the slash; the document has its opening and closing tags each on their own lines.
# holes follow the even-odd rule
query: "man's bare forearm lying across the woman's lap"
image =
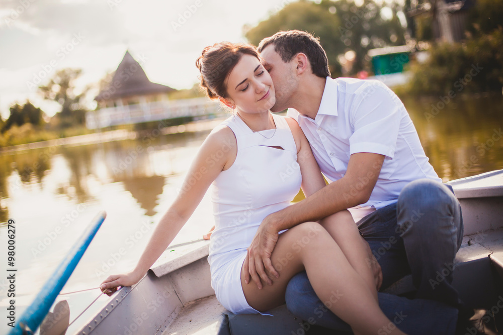
<svg viewBox="0 0 503 335">
<path fill-rule="evenodd" d="M 365 193 L 358 191 L 349 179 L 339 179 L 321 188 L 306 199 L 270 214 L 265 220 L 275 231 L 292 228 L 302 222 L 323 217 L 366 202 Z"/>
</svg>

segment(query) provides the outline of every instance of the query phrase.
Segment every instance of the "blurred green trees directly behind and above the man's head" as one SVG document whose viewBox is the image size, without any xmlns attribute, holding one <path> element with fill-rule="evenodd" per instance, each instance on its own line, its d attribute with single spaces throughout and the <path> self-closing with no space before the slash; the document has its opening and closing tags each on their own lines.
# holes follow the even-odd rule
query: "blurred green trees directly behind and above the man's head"
<svg viewBox="0 0 503 335">
<path fill-rule="evenodd" d="M 383 7 L 391 9 L 392 18 L 383 20 Z M 301 30 L 320 38 L 320 43 L 328 57 L 333 77 L 341 76 L 342 67 L 338 61 L 341 54 L 349 50 L 356 52 L 356 59 L 350 73 L 354 74 L 365 67 L 365 56 L 369 49 L 405 42 L 405 29 L 396 13 L 401 8 L 396 3 L 377 5 L 365 0 L 356 6 L 350 0 L 332 2 L 323 0 L 320 4 L 299 0 L 287 4 L 269 19 L 249 29 L 245 36 L 254 45 L 279 31 Z"/>
</svg>

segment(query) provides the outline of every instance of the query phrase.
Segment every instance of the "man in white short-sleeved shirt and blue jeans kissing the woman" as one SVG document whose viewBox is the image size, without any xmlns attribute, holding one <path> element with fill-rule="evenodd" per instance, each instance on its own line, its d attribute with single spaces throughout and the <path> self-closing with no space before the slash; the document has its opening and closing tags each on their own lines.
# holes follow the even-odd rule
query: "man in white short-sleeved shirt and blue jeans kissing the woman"
<svg viewBox="0 0 503 335">
<path fill-rule="evenodd" d="M 401 101 L 375 80 L 331 79 L 326 54 L 310 34 L 279 32 L 262 40 L 259 51 L 275 85 L 271 110 L 289 108 L 330 181 L 263 225 L 279 231 L 348 208 L 382 269 L 381 288 L 412 274 L 417 299 L 379 293 L 388 318 L 407 333 L 454 333 L 458 310 L 460 318 L 471 316 L 451 286 L 463 237 L 461 208 L 428 162 Z M 245 260 L 255 262 L 262 277 L 275 272 L 269 238 L 256 237 Z M 432 285 L 449 265 L 445 280 Z M 324 308 L 305 272 L 290 281 L 286 301 L 312 324 L 350 330 Z"/>
</svg>

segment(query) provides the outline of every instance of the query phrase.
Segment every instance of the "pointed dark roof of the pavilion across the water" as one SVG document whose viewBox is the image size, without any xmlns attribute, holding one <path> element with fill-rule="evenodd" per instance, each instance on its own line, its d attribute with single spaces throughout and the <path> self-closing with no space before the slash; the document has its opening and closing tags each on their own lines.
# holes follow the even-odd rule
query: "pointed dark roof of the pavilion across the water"
<svg viewBox="0 0 503 335">
<path fill-rule="evenodd" d="M 145 71 L 131 56 L 129 51 L 126 51 L 124 58 L 117 67 L 111 85 L 115 86 L 114 89 L 111 86 L 107 87 L 107 89 L 102 90 L 95 97 L 95 100 L 110 100 L 131 95 L 148 95 L 175 91 L 170 86 L 148 80 Z"/>
</svg>

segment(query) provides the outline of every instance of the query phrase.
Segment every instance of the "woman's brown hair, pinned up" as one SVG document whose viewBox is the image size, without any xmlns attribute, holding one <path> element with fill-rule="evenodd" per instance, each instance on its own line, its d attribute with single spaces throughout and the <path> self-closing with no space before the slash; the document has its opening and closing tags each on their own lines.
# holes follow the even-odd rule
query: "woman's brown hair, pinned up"
<svg viewBox="0 0 503 335">
<path fill-rule="evenodd" d="M 220 42 L 203 49 L 196 66 L 201 72 L 201 88 L 206 90 L 210 99 L 227 97 L 225 78 L 244 54 L 260 59 L 251 44 Z"/>
</svg>

